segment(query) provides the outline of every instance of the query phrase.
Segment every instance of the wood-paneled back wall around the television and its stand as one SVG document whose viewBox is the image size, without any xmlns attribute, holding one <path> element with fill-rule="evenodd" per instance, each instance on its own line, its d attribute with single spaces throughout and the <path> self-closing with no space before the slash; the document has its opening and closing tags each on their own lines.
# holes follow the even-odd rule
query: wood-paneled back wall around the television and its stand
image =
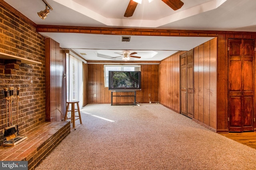
<svg viewBox="0 0 256 170">
<path fill-rule="evenodd" d="M 104 64 L 87 65 L 88 104 L 111 103 L 111 91 L 108 87 L 104 87 Z M 141 64 L 142 90 L 136 92 L 136 102 L 149 103 L 149 100 L 158 102 L 158 68 L 159 64 Z M 133 97 L 113 98 L 113 102 L 132 102 L 133 100 Z"/>
</svg>

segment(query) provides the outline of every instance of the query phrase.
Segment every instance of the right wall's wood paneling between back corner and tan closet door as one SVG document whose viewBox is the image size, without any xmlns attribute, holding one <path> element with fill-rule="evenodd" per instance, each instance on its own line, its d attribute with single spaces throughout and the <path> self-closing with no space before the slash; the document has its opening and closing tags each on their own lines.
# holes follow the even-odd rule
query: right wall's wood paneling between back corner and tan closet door
<svg viewBox="0 0 256 170">
<path fill-rule="evenodd" d="M 159 66 L 159 102 L 180 112 L 180 55 L 181 51 L 163 60 Z"/>
</svg>

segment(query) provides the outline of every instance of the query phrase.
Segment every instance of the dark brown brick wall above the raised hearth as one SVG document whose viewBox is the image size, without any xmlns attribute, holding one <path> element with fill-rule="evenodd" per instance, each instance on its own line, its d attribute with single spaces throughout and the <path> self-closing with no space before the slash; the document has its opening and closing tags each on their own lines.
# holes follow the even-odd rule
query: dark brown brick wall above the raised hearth
<svg viewBox="0 0 256 170">
<path fill-rule="evenodd" d="M 11 12 L 10 12 L 11 11 Z M 17 124 L 17 87 L 20 87 L 18 125 L 20 134 L 45 121 L 44 37 L 35 24 L 16 10 L 0 2 L 0 52 L 41 62 L 7 64 L 0 57 L 0 145 L 6 127 L 6 100 L 3 88 L 14 87 L 13 124 Z"/>
</svg>

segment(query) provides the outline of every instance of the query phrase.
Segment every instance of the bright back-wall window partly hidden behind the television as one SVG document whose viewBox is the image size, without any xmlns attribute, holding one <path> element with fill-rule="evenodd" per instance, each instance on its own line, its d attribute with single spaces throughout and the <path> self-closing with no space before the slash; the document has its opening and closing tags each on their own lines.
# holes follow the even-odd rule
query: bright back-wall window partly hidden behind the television
<svg viewBox="0 0 256 170">
<path fill-rule="evenodd" d="M 105 87 L 108 87 L 108 71 L 140 71 L 140 65 L 104 65 Z"/>
</svg>

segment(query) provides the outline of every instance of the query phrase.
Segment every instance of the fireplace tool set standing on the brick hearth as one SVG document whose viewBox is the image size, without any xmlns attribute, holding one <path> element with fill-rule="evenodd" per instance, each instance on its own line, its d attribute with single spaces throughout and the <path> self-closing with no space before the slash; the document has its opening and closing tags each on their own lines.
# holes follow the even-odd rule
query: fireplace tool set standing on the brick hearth
<svg viewBox="0 0 256 170">
<path fill-rule="evenodd" d="M 18 115 L 19 115 L 19 93 L 20 88 L 17 88 L 17 125 L 13 125 L 12 123 L 12 101 L 14 99 L 13 96 L 14 88 L 9 88 L 9 94 L 8 96 L 8 88 L 4 88 L 4 98 L 3 100 L 6 101 L 6 127 L 3 130 L 4 137 L 6 137 L 6 141 L 4 141 L 3 146 L 14 146 L 21 141 L 24 141 L 27 137 L 26 135 L 20 135 L 19 129 L 18 129 Z M 9 120 L 9 121 L 8 121 Z M 16 129 L 17 128 L 17 129 Z M 16 135 L 17 133 L 17 135 Z"/>
</svg>

